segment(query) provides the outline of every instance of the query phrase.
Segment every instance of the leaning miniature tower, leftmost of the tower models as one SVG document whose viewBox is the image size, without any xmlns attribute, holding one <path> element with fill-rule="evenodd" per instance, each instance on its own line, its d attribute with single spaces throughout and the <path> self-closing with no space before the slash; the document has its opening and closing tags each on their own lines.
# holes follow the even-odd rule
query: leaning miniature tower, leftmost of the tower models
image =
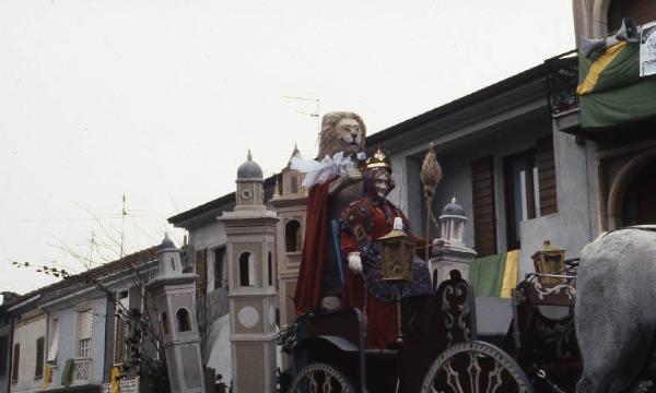
<svg viewBox="0 0 656 393">
<path fill-rule="evenodd" d="M 180 251 L 168 236 L 159 251 L 160 274 L 148 284 L 162 329 L 172 393 L 204 393 L 196 323 L 196 275 L 183 273 Z"/>
</svg>

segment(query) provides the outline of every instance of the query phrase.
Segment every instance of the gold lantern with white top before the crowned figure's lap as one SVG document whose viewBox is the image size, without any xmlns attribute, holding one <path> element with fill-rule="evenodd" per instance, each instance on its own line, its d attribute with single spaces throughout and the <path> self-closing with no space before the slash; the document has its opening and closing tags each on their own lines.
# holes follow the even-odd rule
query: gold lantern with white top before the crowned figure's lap
<svg viewBox="0 0 656 393">
<path fill-rule="evenodd" d="M 394 219 L 391 231 L 378 239 L 384 281 L 412 281 L 414 239 L 403 231 L 401 217 Z"/>
</svg>

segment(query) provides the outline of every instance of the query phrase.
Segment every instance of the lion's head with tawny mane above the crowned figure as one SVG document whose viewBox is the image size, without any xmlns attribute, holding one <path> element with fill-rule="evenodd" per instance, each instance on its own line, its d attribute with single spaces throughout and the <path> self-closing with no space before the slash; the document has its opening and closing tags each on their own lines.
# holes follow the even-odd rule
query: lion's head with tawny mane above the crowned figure
<svg viewBox="0 0 656 393">
<path fill-rule="evenodd" d="M 324 115 L 317 159 L 339 152 L 351 155 L 364 151 L 366 127 L 358 114 L 339 111 Z"/>
</svg>

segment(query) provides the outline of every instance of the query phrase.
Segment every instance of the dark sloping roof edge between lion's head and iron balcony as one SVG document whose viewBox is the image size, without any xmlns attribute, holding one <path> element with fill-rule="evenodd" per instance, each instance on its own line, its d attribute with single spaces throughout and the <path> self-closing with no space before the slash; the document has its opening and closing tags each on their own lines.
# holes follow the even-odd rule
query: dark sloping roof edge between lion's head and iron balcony
<svg viewBox="0 0 656 393">
<path fill-rule="evenodd" d="M 543 63 L 535 66 L 518 74 L 506 78 L 505 80 L 502 80 L 479 91 L 470 93 L 466 96 L 457 98 L 448 104 L 431 109 L 408 120 L 403 120 L 400 123 L 388 127 L 385 130 L 378 131 L 366 139 L 366 145 L 376 145 L 388 139 L 397 136 L 400 132 L 405 132 L 410 129 L 423 126 L 427 122 L 434 121 L 436 119 L 453 115 L 464 108 L 483 103 L 485 100 L 489 100 L 491 97 L 500 95 L 503 92 L 511 91 L 514 87 L 524 85 L 529 81 L 535 81 L 540 78 L 544 78 Z"/>
</svg>

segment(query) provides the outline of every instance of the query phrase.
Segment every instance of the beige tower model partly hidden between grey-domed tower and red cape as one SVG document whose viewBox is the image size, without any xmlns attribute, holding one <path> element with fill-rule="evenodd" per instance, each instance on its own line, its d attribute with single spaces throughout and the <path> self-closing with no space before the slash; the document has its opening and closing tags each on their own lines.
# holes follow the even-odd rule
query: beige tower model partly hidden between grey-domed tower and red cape
<svg viewBox="0 0 656 393">
<path fill-rule="evenodd" d="M 280 308 L 280 327 L 283 329 L 296 318 L 294 294 L 301 266 L 303 235 L 305 234 L 305 214 L 307 212 L 307 190 L 302 186 L 305 174 L 292 169 L 292 160 L 301 158 L 298 147 L 294 145 L 288 165 L 281 171 L 281 183 L 276 184 L 273 198 L 269 201 L 278 212 L 278 235 L 276 239 L 278 260 L 278 300 Z M 288 357 L 282 357 L 281 369 L 289 367 Z"/>
</svg>

